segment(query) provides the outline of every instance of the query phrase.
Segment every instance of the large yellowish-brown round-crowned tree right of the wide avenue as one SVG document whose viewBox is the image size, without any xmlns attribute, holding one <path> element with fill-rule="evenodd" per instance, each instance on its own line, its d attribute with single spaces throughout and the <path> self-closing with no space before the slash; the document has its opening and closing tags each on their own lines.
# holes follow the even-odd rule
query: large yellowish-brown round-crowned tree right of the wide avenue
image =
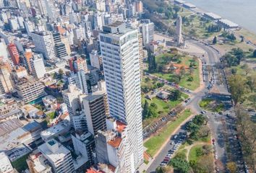
<svg viewBox="0 0 256 173">
<path fill-rule="evenodd" d="M 231 75 L 229 77 L 229 86 L 234 104 L 244 101 L 244 94 L 247 93 L 246 80 L 241 75 Z"/>
</svg>

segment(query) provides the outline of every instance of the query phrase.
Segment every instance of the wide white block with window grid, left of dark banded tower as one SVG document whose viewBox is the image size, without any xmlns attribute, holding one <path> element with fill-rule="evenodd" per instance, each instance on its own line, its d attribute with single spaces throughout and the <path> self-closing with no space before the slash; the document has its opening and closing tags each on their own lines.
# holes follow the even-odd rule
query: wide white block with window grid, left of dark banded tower
<svg viewBox="0 0 256 173">
<path fill-rule="evenodd" d="M 51 32 L 31 32 L 31 37 L 35 44 L 35 51 L 43 53 L 44 58 L 48 60 L 56 58 Z"/>
</svg>

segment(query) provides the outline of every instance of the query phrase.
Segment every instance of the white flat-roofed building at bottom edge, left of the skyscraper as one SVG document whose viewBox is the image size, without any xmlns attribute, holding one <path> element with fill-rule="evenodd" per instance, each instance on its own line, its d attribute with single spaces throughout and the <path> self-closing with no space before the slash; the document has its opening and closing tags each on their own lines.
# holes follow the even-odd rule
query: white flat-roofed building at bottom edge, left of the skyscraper
<svg viewBox="0 0 256 173">
<path fill-rule="evenodd" d="M 56 173 L 74 172 L 74 164 L 70 151 L 54 139 L 46 141 L 38 150 L 50 162 L 51 167 Z"/>
</svg>

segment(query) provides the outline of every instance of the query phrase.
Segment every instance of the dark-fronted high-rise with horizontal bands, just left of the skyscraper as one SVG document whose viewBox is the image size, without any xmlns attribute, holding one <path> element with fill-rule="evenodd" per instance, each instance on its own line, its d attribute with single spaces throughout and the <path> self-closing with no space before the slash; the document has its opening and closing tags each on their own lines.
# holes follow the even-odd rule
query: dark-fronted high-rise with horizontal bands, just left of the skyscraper
<svg viewBox="0 0 256 173">
<path fill-rule="evenodd" d="M 98 88 L 98 91 L 82 99 L 88 131 L 93 135 L 96 135 L 98 130 L 106 130 L 106 117 L 108 116 L 105 82 L 99 81 Z"/>
</svg>

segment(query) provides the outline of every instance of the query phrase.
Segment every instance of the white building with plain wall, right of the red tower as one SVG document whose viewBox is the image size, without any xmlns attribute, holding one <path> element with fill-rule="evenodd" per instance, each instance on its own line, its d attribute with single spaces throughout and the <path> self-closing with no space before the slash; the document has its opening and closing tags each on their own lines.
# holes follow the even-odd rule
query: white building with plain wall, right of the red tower
<svg viewBox="0 0 256 173">
<path fill-rule="evenodd" d="M 43 55 L 34 54 L 33 57 L 33 59 L 30 59 L 32 74 L 37 79 L 43 78 L 43 76 L 46 74 L 46 66 L 44 66 L 43 63 Z"/>
</svg>

